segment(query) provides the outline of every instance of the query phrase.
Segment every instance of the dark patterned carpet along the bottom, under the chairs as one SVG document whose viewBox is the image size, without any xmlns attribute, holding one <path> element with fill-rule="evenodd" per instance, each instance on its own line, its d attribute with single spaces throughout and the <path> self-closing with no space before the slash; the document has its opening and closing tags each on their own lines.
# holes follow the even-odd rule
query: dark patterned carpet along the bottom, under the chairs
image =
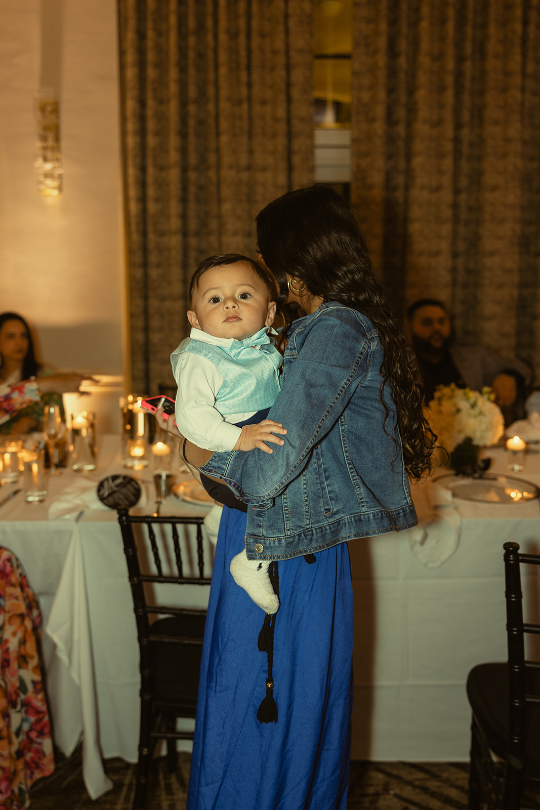
<svg viewBox="0 0 540 810">
<path fill-rule="evenodd" d="M 114 788 L 94 802 L 84 787 L 80 746 L 69 760 L 58 754 L 56 772 L 32 790 L 31 810 L 131 810 L 135 766 L 113 759 L 106 770 Z M 468 770 L 461 762 L 353 761 L 347 810 L 466 810 Z M 173 774 L 164 759 L 155 760 L 148 810 L 184 810 L 188 778 L 189 754 L 178 754 Z"/>
</svg>

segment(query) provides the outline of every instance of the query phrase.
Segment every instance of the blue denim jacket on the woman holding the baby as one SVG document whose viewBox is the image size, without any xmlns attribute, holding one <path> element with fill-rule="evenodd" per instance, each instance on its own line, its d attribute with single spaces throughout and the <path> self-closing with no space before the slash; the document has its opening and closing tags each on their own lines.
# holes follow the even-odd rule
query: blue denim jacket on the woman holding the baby
<svg viewBox="0 0 540 810">
<path fill-rule="evenodd" d="M 269 419 L 283 446 L 215 453 L 201 467 L 249 505 L 250 559 L 286 560 L 417 522 L 383 352 L 362 313 L 330 301 L 294 325 Z M 390 434 L 390 435 L 388 435 Z M 393 441 L 393 437 L 396 441 Z"/>
</svg>

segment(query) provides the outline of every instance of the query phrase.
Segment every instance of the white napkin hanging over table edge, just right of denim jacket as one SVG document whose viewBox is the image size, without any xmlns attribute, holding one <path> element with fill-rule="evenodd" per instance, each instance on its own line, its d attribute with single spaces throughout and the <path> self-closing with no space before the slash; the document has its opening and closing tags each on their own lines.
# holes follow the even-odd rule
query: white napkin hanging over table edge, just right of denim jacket
<svg viewBox="0 0 540 810">
<path fill-rule="evenodd" d="M 455 554 L 459 545 L 461 518 L 453 506 L 452 492 L 432 482 L 427 484 L 432 519 L 410 529 L 410 549 L 426 568 L 438 568 Z"/>
</svg>

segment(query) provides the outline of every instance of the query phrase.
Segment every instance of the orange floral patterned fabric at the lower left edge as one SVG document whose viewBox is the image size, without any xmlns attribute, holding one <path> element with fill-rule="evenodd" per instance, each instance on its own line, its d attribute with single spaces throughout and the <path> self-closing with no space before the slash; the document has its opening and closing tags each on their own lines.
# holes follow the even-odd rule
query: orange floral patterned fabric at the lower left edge
<svg viewBox="0 0 540 810">
<path fill-rule="evenodd" d="M 30 804 L 36 779 L 54 770 L 53 740 L 36 635 L 40 609 L 16 556 L 0 548 L 0 807 Z"/>
</svg>

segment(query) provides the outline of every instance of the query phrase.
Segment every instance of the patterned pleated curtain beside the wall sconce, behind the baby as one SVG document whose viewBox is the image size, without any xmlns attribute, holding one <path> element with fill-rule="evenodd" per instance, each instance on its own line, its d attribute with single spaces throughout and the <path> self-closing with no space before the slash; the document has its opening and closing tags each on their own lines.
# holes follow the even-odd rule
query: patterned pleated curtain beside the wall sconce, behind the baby
<svg viewBox="0 0 540 810">
<path fill-rule="evenodd" d="M 313 182 L 311 0 L 119 0 L 131 390 L 172 383 L 189 278 L 255 255 L 254 217 Z"/>
</svg>

